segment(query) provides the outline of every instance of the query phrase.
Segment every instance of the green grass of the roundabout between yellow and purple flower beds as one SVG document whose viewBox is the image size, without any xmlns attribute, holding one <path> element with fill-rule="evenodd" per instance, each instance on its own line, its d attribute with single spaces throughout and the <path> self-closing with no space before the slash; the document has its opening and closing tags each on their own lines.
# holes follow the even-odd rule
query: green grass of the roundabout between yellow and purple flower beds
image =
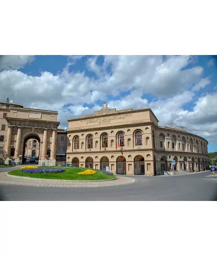
<svg viewBox="0 0 217 256">
<path fill-rule="evenodd" d="M 22 177 L 39 178 L 39 179 L 57 179 L 57 180 L 109 180 L 116 178 L 115 175 L 107 175 L 101 170 L 95 170 L 97 173 L 93 175 L 78 175 L 79 172 L 84 172 L 84 170 L 89 168 L 77 168 L 77 167 L 54 167 L 54 166 L 40 166 L 42 169 L 65 169 L 62 173 L 21 173 L 19 170 L 11 170 L 8 174 Z"/>
</svg>

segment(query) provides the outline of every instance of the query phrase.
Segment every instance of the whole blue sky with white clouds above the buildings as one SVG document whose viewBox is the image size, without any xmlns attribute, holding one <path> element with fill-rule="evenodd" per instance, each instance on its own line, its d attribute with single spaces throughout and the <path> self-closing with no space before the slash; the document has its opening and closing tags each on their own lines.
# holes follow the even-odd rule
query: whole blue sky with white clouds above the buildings
<svg viewBox="0 0 217 256">
<path fill-rule="evenodd" d="M 0 56 L 0 101 L 68 119 L 109 108 L 151 108 L 159 126 L 184 126 L 217 151 L 215 56 Z"/>
</svg>

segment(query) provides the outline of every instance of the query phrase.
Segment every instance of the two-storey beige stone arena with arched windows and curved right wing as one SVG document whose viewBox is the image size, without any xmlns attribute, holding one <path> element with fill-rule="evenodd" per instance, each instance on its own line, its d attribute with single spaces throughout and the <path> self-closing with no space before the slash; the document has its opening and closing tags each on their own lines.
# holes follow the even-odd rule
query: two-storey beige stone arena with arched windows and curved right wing
<svg viewBox="0 0 217 256">
<path fill-rule="evenodd" d="M 208 166 L 206 139 L 158 126 L 151 109 L 101 111 L 68 120 L 66 162 L 127 175 L 160 170 L 197 172 Z M 174 162 L 175 161 L 175 162 Z"/>
</svg>

